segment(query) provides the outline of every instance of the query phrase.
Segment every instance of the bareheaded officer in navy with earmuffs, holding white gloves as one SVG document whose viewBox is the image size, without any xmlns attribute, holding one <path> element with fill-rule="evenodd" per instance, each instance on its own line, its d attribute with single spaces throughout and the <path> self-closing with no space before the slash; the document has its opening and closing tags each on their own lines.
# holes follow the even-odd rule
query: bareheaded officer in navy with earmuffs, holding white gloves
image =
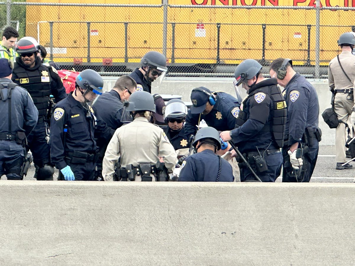
<svg viewBox="0 0 355 266">
<path fill-rule="evenodd" d="M 270 75 L 285 88 L 283 94 L 287 106 L 287 122 L 282 150 L 282 182 L 309 182 L 316 166 L 318 142 L 322 135 L 318 128 L 319 103 L 316 89 L 305 77 L 294 71 L 290 59 L 275 59 L 270 65 Z"/>
</svg>

